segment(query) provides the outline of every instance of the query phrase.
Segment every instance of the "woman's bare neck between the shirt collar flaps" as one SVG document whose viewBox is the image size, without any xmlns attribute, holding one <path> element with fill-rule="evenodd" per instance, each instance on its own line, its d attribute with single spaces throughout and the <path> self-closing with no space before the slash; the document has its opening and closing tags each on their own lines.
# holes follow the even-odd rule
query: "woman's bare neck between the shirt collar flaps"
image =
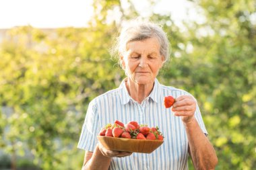
<svg viewBox="0 0 256 170">
<path fill-rule="evenodd" d="M 146 99 L 146 97 L 150 95 L 154 87 L 154 82 L 150 84 L 139 84 L 131 81 L 130 79 L 126 79 L 125 85 L 131 98 L 138 103 L 141 103 L 143 99 Z"/>
</svg>

